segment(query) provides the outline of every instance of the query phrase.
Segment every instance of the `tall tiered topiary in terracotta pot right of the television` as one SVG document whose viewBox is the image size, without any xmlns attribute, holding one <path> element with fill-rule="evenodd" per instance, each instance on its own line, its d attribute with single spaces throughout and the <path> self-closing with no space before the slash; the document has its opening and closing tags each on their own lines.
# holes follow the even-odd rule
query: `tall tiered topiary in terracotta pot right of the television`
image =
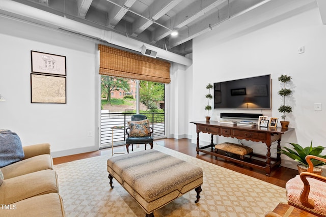
<svg viewBox="0 0 326 217">
<path fill-rule="evenodd" d="M 283 105 L 281 105 L 278 110 L 279 110 L 280 113 L 283 113 L 283 115 L 282 115 L 283 121 L 280 121 L 281 122 L 281 126 L 282 126 L 283 129 L 287 129 L 288 126 L 289 126 L 290 121 L 286 121 L 285 120 L 286 113 L 292 112 L 292 107 L 285 105 L 285 98 L 286 98 L 286 96 L 289 96 L 289 95 L 292 94 L 292 90 L 291 89 L 287 89 L 286 88 L 286 84 L 291 81 L 291 76 L 281 75 L 279 77 L 279 81 L 281 81 L 284 84 L 284 88 L 282 88 L 278 92 L 278 94 L 283 97 L 283 100 L 284 101 L 283 101 Z"/>
</svg>

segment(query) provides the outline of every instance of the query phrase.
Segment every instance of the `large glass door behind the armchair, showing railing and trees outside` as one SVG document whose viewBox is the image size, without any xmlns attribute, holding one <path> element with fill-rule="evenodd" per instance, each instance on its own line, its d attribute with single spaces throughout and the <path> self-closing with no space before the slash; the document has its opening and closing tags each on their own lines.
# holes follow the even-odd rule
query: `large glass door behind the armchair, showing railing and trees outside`
<svg viewBox="0 0 326 217">
<path fill-rule="evenodd" d="M 139 96 L 138 96 L 139 94 Z M 125 129 L 132 114 L 145 114 L 154 138 L 165 137 L 165 84 L 101 76 L 101 147 L 124 144 Z"/>
</svg>

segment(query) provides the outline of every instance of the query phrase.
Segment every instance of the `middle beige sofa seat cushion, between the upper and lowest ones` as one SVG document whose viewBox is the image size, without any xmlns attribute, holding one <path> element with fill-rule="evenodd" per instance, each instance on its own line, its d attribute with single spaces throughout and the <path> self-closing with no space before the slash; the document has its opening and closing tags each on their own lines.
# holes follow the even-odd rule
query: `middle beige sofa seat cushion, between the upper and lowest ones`
<svg viewBox="0 0 326 217">
<path fill-rule="evenodd" d="M 30 197 L 58 192 L 56 171 L 41 170 L 5 179 L 0 188 L 0 204 L 12 204 Z"/>
</svg>

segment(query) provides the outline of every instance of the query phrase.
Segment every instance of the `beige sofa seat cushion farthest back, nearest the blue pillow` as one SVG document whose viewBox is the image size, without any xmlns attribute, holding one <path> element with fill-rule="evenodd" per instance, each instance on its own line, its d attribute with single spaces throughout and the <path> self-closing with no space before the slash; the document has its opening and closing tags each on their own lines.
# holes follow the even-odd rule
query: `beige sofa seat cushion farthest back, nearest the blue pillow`
<svg viewBox="0 0 326 217">
<path fill-rule="evenodd" d="M 50 154 L 41 154 L 10 164 L 3 167 L 2 172 L 5 179 L 8 179 L 46 169 L 53 169 L 53 160 Z"/>
</svg>

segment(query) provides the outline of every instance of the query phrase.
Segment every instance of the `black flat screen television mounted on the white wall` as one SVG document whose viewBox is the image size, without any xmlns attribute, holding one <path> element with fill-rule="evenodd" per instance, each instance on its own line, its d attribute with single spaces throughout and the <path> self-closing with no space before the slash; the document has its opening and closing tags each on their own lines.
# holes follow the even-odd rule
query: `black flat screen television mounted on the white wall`
<svg viewBox="0 0 326 217">
<path fill-rule="evenodd" d="M 214 83 L 214 109 L 270 109 L 270 75 Z"/>
</svg>

